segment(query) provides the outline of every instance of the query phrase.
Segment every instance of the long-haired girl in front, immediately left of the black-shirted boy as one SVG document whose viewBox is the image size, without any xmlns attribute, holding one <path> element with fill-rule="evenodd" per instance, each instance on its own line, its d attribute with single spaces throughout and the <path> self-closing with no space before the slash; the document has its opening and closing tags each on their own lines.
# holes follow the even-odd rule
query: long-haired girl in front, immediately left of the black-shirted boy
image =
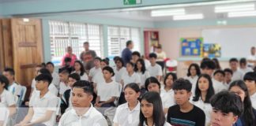
<svg viewBox="0 0 256 126">
<path fill-rule="evenodd" d="M 139 126 L 171 126 L 166 122 L 159 93 L 149 91 L 142 95 Z"/>
</svg>

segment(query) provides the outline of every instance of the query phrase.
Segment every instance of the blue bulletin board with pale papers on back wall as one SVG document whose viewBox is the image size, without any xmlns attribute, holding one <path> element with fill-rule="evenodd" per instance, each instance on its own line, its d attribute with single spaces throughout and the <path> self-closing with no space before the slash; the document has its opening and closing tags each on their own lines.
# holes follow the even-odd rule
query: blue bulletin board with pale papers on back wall
<svg viewBox="0 0 256 126">
<path fill-rule="evenodd" d="M 181 38 L 182 56 L 202 56 L 202 38 Z"/>
</svg>

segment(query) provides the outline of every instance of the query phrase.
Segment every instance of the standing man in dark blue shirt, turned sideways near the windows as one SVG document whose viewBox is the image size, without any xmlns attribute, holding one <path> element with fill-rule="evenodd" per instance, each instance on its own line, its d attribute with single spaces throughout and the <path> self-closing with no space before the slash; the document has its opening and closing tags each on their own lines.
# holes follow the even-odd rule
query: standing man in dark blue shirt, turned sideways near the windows
<svg viewBox="0 0 256 126">
<path fill-rule="evenodd" d="M 124 62 L 124 65 L 126 65 L 127 62 L 129 62 L 132 59 L 132 51 L 134 48 L 133 41 L 129 40 L 126 42 L 126 48 L 122 50 L 122 60 Z"/>
</svg>

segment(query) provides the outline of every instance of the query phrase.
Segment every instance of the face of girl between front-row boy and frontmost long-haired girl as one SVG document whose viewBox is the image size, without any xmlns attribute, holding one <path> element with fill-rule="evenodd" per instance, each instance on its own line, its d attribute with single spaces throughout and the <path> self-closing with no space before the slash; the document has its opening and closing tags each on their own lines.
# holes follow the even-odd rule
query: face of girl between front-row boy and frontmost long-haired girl
<svg viewBox="0 0 256 126">
<path fill-rule="evenodd" d="M 129 102 L 136 102 L 137 98 L 139 98 L 140 96 L 140 92 L 136 92 L 134 91 L 134 89 L 130 88 L 130 87 L 126 87 L 126 89 L 124 90 L 124 94 L 125 94 L 125 98 L 126 101 Z"/>
</svg>

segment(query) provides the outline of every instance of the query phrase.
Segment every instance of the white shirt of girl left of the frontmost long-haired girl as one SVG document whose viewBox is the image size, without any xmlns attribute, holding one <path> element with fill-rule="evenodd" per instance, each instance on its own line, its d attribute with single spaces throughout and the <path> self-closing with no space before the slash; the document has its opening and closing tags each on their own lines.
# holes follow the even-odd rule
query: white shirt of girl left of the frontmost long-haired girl
<svg viewBox="0 0 256 126">
<path fill-rule="evenodd" d="M 128 103 L 124 103 L 115 111 L 114 123 L 119 124 L 120 126 L 131 126 L 138 125 L 140 123 L 140 110 L 141 103 L 137 102 L 137 106 L 134 109 L 130 110 Z"/>
</svg>

